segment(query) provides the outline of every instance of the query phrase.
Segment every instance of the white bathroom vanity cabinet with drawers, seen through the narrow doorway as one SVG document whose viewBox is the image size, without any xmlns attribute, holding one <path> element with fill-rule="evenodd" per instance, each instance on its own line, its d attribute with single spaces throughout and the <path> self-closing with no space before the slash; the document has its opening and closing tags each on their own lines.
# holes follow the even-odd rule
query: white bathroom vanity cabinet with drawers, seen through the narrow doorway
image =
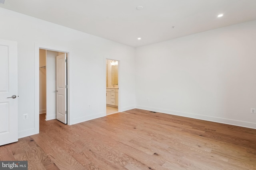
<svg viewBox="0 0 256 170">
<path fill-rule="evenodd" d="M 106 104 L 118 107 L 118 88 L 106 88 Z"/>
</svg>

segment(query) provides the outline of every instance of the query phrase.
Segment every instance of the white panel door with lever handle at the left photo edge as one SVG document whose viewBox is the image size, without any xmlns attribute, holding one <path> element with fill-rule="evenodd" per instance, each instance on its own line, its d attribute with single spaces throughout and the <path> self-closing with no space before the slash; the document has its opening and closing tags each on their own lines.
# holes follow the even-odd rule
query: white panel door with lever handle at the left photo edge
<svg viewBox="0 0 256 170">
<path fill-rule="evenodd" d="M 0 145 L 18 141 L 17 43 L 0 40 Z"/>
</svg>

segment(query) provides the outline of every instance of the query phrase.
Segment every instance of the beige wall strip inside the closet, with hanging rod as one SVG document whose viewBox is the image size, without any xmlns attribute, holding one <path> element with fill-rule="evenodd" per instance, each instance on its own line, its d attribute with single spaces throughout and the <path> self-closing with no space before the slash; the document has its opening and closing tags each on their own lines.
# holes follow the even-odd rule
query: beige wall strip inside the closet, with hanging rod
<svg viewBox="0 0 256 170">
<path fill-rule="evenodd" d="M 46 66 L 46 51 L 39 51 L 39 67 Z M 39 113 L 46 113 L 46 68 L 39 69 Z"/>
</svg>

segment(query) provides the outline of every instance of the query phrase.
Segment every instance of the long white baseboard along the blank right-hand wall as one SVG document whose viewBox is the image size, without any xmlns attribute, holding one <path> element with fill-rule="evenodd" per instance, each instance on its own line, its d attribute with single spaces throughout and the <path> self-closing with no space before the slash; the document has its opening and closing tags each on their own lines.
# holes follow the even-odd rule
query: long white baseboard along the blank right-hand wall
<svg viewBox="0 0 256 170">
<path fill-rule="evenodd" d="M 221 118 L 221 117 L 213 117 L 213 116 L 207 116 L 207 115 L 198 115 L 198 114 L 194 114 L 194 113 L 186 113 L 186 112 L 166 110 L 166 109 L 158 109 L 158 108 L 152 108 L 152 107 L 146 107 L 146 106 L 137 106 L 136 108 L 150 110 L 150 111 L 156 111 L 156 112 L 160 112 L 160 113 L 166 113 L 166 114 L 170 114 L 170 115 L 178 115 L 178 116 L 190 117 L 190 118 L 194 118 L 194 119 L 212 121 L 212 122 L 216 122 L 216 123 L 224 123 L 224 124 L 228 124 L 228 125 L 235 125 L 235 126 L 256 129 L 256 123 L 252 123 L 252 122 L 226 119 L 226 118 Z"/>
</svg>

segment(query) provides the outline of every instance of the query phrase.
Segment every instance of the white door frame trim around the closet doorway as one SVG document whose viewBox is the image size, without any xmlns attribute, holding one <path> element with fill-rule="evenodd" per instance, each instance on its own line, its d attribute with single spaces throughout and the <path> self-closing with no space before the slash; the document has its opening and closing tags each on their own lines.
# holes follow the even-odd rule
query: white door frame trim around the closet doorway
<svg viewBox="0 0 256 170">
<path fill-rule="evenodd" d="M 34 103 L 34 128 L 35 128 L 35 134 L 39 133 L 39 49 L 45 49 L 50 51 L 58 51 L 62 53 L 68 54 L 68 64 L 67 64 L 67 84 L 68 84 L 68 91 L 67 91 L 67 107 L 68 107 L 68 116 L 67 116 L 67 123 L 70 125 L 70 98 L 72 98 L 72 93 L 70 92 L 71 82 L 72 82 L 72 69 L 70 68 L 72 66 L 72 51 L 66 47 L 56 47 L 53 45 L 44 45 L 35 43 L 35 84 L 34 84 L 34 90 L 35 90 L 35 103 Z"/>
</svg>

